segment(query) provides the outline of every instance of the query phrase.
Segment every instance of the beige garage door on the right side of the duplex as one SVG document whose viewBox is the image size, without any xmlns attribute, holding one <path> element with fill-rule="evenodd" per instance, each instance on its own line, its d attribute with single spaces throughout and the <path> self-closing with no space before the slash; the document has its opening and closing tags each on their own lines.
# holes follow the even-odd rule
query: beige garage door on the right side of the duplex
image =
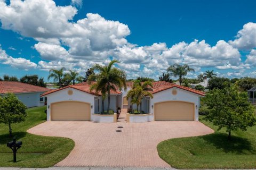
<svg viewBox="0 0 256 170">
<path fill-rule="evenodd" d="M 194 121 L 194 104 L 182 101 L 165 101 L 155 104 L 156 121 Z"/>
</svg>

